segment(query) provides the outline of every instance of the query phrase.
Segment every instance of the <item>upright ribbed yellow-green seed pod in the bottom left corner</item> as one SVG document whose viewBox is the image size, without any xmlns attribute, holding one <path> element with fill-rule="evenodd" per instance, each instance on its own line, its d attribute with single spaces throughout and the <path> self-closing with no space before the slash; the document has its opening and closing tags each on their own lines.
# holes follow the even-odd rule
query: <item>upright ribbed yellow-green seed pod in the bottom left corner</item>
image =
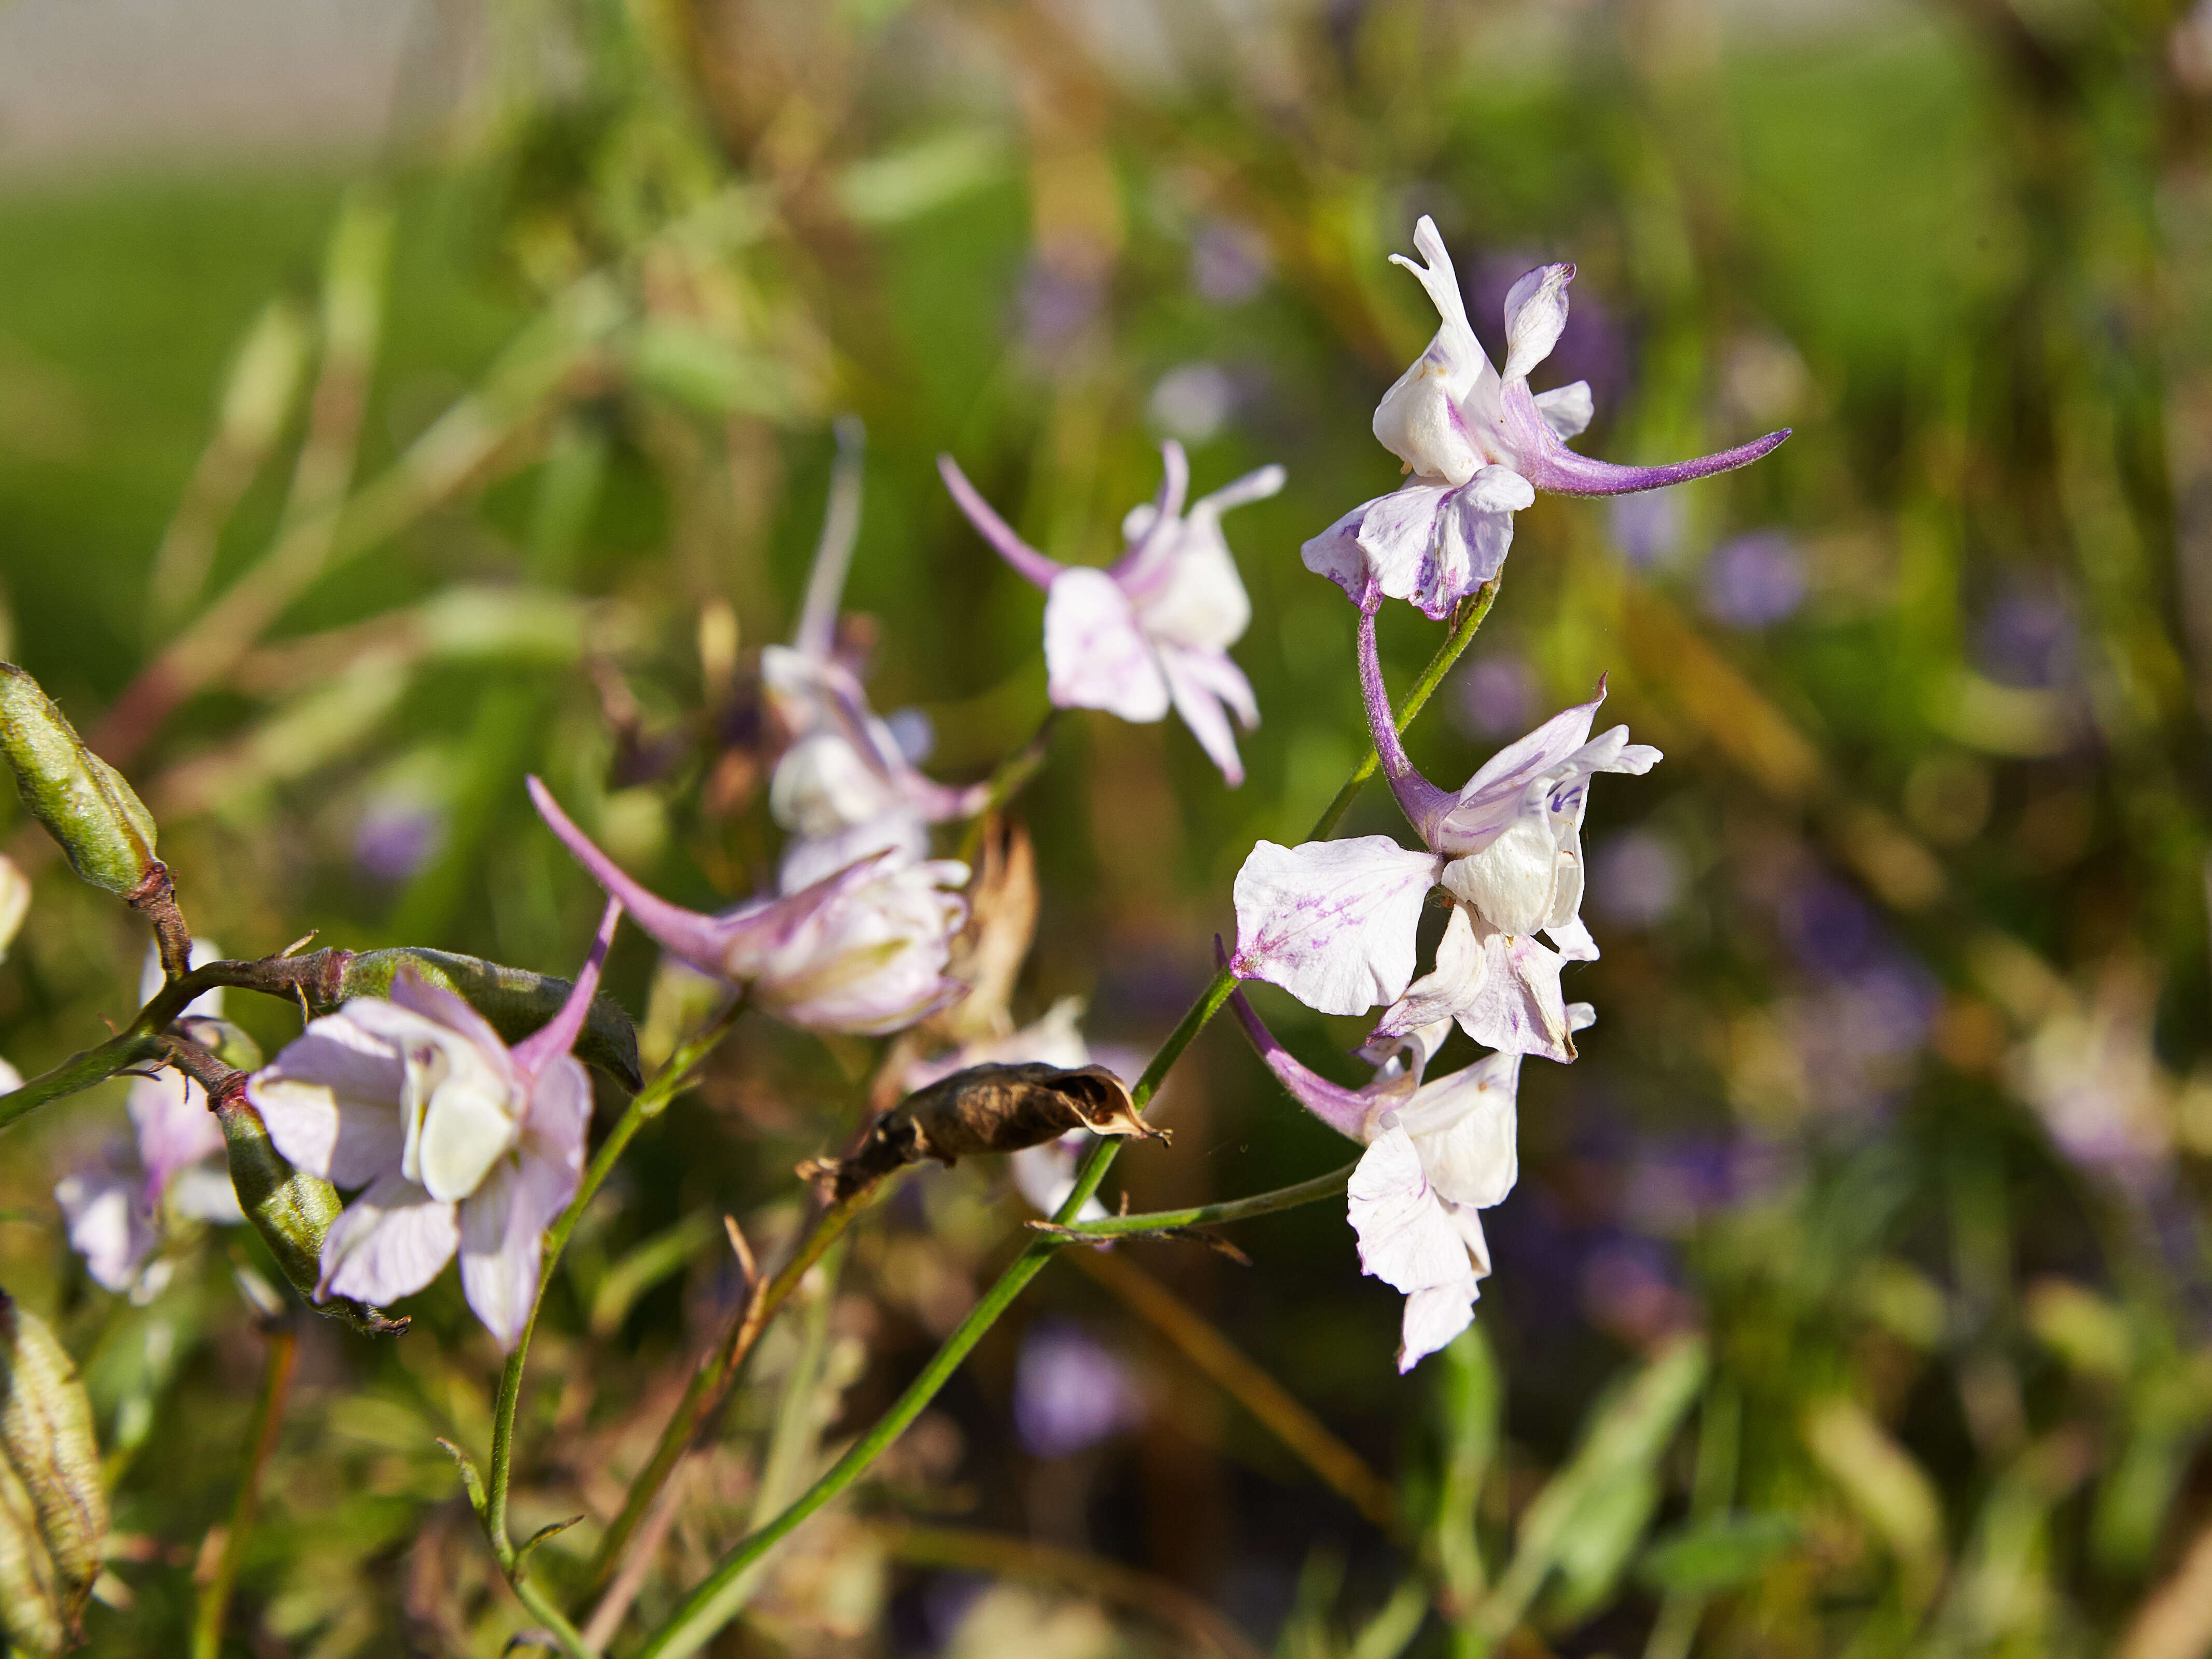
<svg viewBox="0 0 2212 1659">
<path fill-rule="evenodd" d="M 0 1460 L 31 1500 L 55 1604 L 75 1630 L 108 1535 L 93 1402 L 46 1323 L 7 1292 L 0 1292 Z"/>
</svg>

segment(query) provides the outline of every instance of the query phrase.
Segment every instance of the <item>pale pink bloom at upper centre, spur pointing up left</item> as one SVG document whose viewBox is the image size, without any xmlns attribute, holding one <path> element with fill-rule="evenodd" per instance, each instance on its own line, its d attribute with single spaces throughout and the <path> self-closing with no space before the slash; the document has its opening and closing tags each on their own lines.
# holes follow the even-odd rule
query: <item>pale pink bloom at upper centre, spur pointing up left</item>
<svg viewBox="0 0 2212 1659">
<path fill-rule="evenodd" d="M 1044 588 L 1046 692 L 1055 708 L 1102 708 L 1126 721 L 1157 721 L 1172 706 L 1230 785 L 1243 783 L 1234 710 L 1259 726 L 1252 684 L 1230 659 L 1252 602 L 1221 535 L 1232 507 L 1283 489 L 1281 467 L 1261 467 L 1183 511 L 1190 462 L 1175 440 L 1159 447 L 1166 478 L 1159 500 L 1121 520 L 1128 551 L 1108 568 L 1060 564 L 1029 546 L 1002 520 L 951 456 L 938 456 L 960 511 L 1020 575 Z"/>
</svg>

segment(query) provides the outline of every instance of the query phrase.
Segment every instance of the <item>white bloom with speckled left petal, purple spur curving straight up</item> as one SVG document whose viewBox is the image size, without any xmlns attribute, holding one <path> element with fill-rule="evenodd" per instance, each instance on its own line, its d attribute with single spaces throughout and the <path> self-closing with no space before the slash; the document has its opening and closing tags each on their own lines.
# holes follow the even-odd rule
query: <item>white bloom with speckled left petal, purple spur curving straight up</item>
<svg viewBox="0 0 2212 1659">
<path fill-rule="evenodd" d="M 1597 960 L 1582 925 L 1582 818 L 1599 772 L 1648 772 L 1659 750 L 1615 726 L 1590 737 L 1604 686 L 1498 750 L 1458 794 L 1407 759 L 1360 615 L 1360 695 L 1383 772 L 1425 852 L 1389 836 L 1261 841 L 1237 872 L 1239 978 L 1270 980 L 1323 1013 L 1391 1004 L 1376 1037 L 1458 1020 L 1504 1053 L 1573 1060 L 1559 969 Z M 1413 931 L 1431 887 L 1451 896 L 1436 971 L 1413 980 Z M 1551 947 L 1537 940 L 1551 936 Z"/>
</svg>

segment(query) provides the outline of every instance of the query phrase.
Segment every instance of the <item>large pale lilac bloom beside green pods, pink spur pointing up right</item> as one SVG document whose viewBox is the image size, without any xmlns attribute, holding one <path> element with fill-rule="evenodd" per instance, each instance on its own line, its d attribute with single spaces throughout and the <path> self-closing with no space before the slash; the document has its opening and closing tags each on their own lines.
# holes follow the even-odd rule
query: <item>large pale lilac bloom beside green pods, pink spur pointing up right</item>
<svg viewBox="0 0 2212 1659">
<path fill-rule="evenodd" d="M 316 1296 L 392 1303 L 458 1252 L 469 1307 L 502 1349 L 522 1338 L 546 1228 L 584 1175 L 591 1077 L 568 1048 L 619 916 L 608 902 L 560 1013 L 513 1048 L 458 995 L 400 973 L 389 1000 L 312 1020 L 248 1079 L 294 1168 L 361 1188 L 323 1239 Z"/>
</svg>

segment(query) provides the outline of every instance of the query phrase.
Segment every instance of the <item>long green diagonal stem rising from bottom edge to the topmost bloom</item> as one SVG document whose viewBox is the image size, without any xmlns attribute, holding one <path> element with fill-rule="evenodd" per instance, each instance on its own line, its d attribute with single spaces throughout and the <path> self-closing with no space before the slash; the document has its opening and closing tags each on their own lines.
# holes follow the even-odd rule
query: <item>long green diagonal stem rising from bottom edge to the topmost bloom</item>
<svg viewBox="0 0 2212 1659">
<path fill-rule="evenodd" d="M 1460 659 L 1460 653 L 1467 650 L 1467 644 L 1475 637 L 1475 630 L 1491 613 L 1491 604 L 1495 604 L 1495 599 L 1498 582 L 1484 582 L 1482 588 L 1471 593 L 1460 604 L 1451 633 L 1429 659 L 1429 666 L 1422 668 L 1420 679 L 1413 681 L 1413 690 L 1407 692 L 1405 708 L 1398 712 L 1396 721 L 1400 732 L 1411 726 L 1413 717 L 1436 692 L 1438 684 L 1442 684 L 1444 675 L 1451 672 L 1451 666 Z M 1378 765 L 1380 759 L 1369 748 L 1367 759 L 1352 772 L 1345 787 L 1336 792 L 1336 799 L 1314 823 L 1307 841 L 1318 841 L 1336 827 L 1338 818 L 1343 818 L 1345 810 L 1349 810 L 1354 796 L 1358 796 L 1360 785 L 1376 774 Z M 1206 991 L 1199 993 L 1199 1000 L 1190 1004 L 1190 1011 L 1181 1018 L 1175 1031 L 1168 1033 L 1159 1053 L 1152 1055 L 1152 1064 L 1144 1068 L 1144 1075 L 1130 1091 L 1130 1102 L 1137 1110 L 1144 1110 L 1144 1106 L 1159 1091 L 1168 1068 L 1183 1055 L 1183 1048 L 1190 1046 L 1192 1037 L 1206 1029 L 1206 1022 L 1221 1011 L 1221 1004 L 1230 1000 L 1234 989 L 1237 975 L 1221 969 Z M 1099 1139 L 1097 1146 L 1091 1148 L 1082 1166 L 1075 1170 L 1075 1190 L 1068 1192 L 1066 1203 L 1060 1206 L 1060 1214 L 1053 1217 L 1057 1225 L 1064 1228 L 1075 1221 L 1084 1203 L 1099 1190 L 1099 1183 L 1106 1179 L 1106 1170 L 1113 1168 L 1119 1150 L 1119 1139 Z M 982 1334 L 998 1323 L 1000 1314 L 1013 1305 L 1013 1298 L 1029 1287 L 1029 1281 L 1044 1272 L 1044 1263 L 1053 1259 L 1057 1248 L 1060 1243 L 1051 1237 L 1033 1239 L 1022 1254 L 1013 1259 L 1006 1272 L 998 1276 L 998 1283 L 984 1292 L 982 1301 L 975 1303 L 969 1316 L 960 1321 L 953 1334 L 945 1338 L 945 1345 L 936 1352 L 929 1365 L 922 1367 L 922 1374 L 907 1385 L 907 1391 L 898 1396 L 891 1409 L 885 1411 L 883 1420 L 860 1436 L 860 1440 L 856 1440 L 852 1449 L 838 1458 L 836 1464 L 832 1464 L 830 1473 L 807 1486 L 807 1491 L 801 1493 L 790 1509 L 768 1522 L 768 1526 L 757 1528 L 750 1537 L 723 1555 L 721 1562 L 714 1564 L 714 1571 L 708 1573 L 688 1597 L 684 1597 L 684 1604 L 668 1617 L 668 1621 L 646 1639 L 637 1659 L 684 1659 L 686 1655 L 699 1652 L 699 1648 L 706 1646 L 726 1624 L 714 1606 L 723 1586 L 757 1559 L 768 1555 L 768 1551 L 781 1544 L 792 1531 L 799 1528 L 801 1522 L 814 1515 L 814 1511 L 843 1493 L 854 1480 L 860 1478 L 860 1471 L 883 1455 L 885 1447 L 907 1431 L 907 1427 L 936 1398 L 938 1389 L 942 1389 L 951 1380 L 953 1371 L 960 1369 L 960 1363 L 969 1356 L 975 1343 L 982 1340 Z"/>
</svg>

